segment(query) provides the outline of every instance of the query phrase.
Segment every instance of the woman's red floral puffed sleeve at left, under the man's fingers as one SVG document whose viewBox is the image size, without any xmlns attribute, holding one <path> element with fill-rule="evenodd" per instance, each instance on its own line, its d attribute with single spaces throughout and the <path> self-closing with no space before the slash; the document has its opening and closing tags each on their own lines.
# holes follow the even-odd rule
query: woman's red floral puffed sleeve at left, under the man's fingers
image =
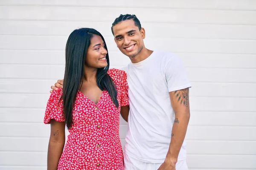
<svg viewBox="0 0 256 170">
<path fill-rule="evenodd" d="M 59 99 L 62 95 L 62 89 L 52 91 L 51 96 L 48 99 L 47 107 L 44 115 L 44 124 L 49 124 L 51 119 L 55 119 L 58 122 L 64 122 L 63 105 L 62 100 Z"/>
</svg>

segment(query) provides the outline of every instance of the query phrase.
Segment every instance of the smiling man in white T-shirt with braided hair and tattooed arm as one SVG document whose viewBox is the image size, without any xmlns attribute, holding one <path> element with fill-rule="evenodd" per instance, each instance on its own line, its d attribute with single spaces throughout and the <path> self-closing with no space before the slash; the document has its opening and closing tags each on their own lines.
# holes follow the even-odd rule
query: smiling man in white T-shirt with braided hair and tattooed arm
<svg viewBox="0 0 256 170">
<path fill-rule="evenodd" d="M 111 31 L 119 50 L 131 59 L 123 68 L 130 102 L 129 114 L 122 115 L 126 121 L 128 116 L 125 170 L 187 170 L 184 138 L 191 85 L 183 63 L 172 53 L 145 48 L 145 29 L 135 15 L 121 14 Z"/>
</svg>

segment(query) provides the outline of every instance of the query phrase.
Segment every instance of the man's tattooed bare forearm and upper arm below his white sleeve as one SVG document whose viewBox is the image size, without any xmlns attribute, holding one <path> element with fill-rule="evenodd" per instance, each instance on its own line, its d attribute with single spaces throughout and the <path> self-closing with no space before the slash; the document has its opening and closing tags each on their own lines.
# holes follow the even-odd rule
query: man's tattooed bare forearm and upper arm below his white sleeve
<svg viewBox="0 0 256 170">
<path fill-rule="evenodd" d="M 175 170 L 180 148 L 186 136 L 189 124 L 189 88 L 169 92 L 172 108 L 175 112 L 175 121 L 172 127 L 172 137 L 164 163 L 158 170 Z"/>
</svg>

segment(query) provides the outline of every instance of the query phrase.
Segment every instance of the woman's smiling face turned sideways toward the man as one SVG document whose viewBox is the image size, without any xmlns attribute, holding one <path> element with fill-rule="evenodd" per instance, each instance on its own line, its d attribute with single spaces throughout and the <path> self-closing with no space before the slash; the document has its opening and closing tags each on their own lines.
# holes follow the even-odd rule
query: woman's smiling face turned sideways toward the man
<svg viewBox="0 0 256 170">
<path fill-rule="evenodd" d="M 105 43 L 99 35 L 93 35 L 90 40 L 90 46 L 87 50 L 85 66 L 90 68 L 104 68 L 108 66 L 105 49 Z"/>
</svg>

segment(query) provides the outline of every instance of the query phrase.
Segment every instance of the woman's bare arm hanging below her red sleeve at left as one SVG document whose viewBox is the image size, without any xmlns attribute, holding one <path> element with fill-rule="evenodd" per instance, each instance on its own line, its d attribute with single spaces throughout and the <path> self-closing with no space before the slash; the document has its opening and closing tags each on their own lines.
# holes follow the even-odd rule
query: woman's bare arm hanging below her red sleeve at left
<svg viewBox="0 0 256 170">
<path fill-rule="evenodd" d="M 51 134 L 47 154 L 47 170 L 57 170 L 65 145 L 65 122 L 51 119 Z"/>
</svg>

